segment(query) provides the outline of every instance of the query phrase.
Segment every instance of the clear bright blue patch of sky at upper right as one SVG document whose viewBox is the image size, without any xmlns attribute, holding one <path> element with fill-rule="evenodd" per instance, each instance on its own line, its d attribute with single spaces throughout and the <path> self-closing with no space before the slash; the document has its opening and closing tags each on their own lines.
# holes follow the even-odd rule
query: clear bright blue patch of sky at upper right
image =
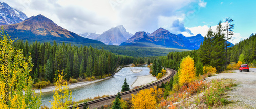
<svg viewBox="0 0 256 109">
<path fill-rule="evenodd" d="M 215 26 L 219 20 L 223 22 L 230 17 L 235 24 L 233 31 L 240 33 L 241 38 L 248 38 L 251 33 L 256 32 L 256 20 L 254 19 L 256 1 L 209 0 L 204 2 L 207 2 L 206 7 L 195 13 L 193 18 L 187 18 L 189 22 L 185 24 L 185 27 Z M 186 9 L 186 12 L 189 12 L 189 9 Z"/>
</svg>

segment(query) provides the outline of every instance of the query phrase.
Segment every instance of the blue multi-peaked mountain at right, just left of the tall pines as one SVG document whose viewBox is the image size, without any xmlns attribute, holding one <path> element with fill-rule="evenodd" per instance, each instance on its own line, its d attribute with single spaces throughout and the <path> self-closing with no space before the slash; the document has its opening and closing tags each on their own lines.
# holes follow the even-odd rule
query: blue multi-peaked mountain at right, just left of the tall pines
<svg viewBox="0 0 256 109">
<path fill-rule="evenodd" d="M 120 46 L 198 49 L 203 40 L 204 37 L 201 34 L 193 37 L 185 37 L 182 34 L 172 34 L 166 29 L 159 28 L 151 34 L 137 32 L 133 37 L 126 42 L 123 42 Z"/>
</svg>

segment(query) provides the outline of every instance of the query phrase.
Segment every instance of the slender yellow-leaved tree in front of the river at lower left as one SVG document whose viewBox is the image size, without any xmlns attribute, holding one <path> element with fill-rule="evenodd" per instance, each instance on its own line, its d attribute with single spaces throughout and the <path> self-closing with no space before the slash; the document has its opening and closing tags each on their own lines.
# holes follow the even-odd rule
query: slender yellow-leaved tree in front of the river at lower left
<svg viewBox="0 0 256 109">
<path fill-rule="evenodd" d="M 69 90 L 68 83 L 63 79 L 63 77 L 64 75 L 62 71 L 55 79 L 53 101 L 50 101 L 52 109 L 68 108 L 68 106 L 72 104 L 72 92 Z M 76 105 L 73 104 L 73 108 L 75 107 Z"/>
</svg>

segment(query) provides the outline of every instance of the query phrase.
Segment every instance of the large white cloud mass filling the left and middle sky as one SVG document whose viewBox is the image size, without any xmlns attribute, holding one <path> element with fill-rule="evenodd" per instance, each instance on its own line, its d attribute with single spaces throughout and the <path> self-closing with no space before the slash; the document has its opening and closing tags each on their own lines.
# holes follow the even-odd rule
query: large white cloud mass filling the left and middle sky
<svg viewBox="0 0 256 109">
<path fill-rule="evenodd" d="M 173 21 L 182 24 L 184 12 L 178 10 L 195 0 L 3 0 L 28 17 L 42 14 L 57 25 L 75 33 L 102 33 L 124 25 L 131 33 L 153 32 L 159 27 L 172 31 Z M 201 2 L 202 6 L 206 5 Z"/>
</svg>

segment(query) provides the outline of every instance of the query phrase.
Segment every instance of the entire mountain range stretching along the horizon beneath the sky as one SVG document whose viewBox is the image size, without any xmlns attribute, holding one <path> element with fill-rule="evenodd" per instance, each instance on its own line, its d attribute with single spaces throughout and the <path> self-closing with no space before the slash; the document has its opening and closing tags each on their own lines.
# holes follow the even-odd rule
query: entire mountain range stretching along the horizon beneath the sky
<svg viewBox="0 0 256 109">
<path fill-rule="evenodd" d="M 204 37 L 201 34 L 186 37 L 173 34 L 164 28 L 153 33 L 127 32 L 123 25 L 111 28 L 102 34 L 70 32 L 43 15 L 28 18 L 23 12 L 11 8 L 0 2 L 0 25 L 12 36 L 28 41 L 40 42 L 68 42 L 68 43 L 97 43 L 120 46 L 164 47 L 178 49 L 199 49 Z"/>
</svg>

